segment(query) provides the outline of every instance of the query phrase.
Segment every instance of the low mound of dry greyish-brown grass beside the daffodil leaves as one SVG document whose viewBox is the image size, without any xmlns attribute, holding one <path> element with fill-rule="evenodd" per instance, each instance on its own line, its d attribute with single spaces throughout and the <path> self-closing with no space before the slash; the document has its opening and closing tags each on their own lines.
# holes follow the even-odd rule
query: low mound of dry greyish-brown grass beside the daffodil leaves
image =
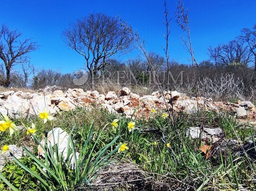
<svg viewBox="0 0 256 191">
<path fill-rule="evenodd" d="M 167 181 L 166 181 L 167 182 Z M 114 162 L 99 172 L 86 191 L 168 191 L 179 187 L 176 183 L 162 183 L 131 162 Z"/>
</svg>

